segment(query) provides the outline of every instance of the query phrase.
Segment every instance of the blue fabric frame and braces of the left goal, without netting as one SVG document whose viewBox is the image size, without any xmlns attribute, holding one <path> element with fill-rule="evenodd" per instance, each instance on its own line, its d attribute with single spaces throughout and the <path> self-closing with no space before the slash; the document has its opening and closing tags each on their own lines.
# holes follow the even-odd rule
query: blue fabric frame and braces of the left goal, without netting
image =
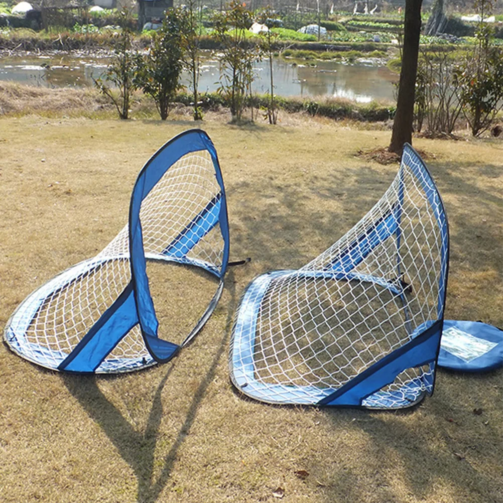
<svg viewBox="0 0 503 503">
<path fill-rule="evenodd" d="M 178 353 L 180 350 L 179 345 L 159 339 L 157 336 L 158 322 L 146 275 L 146 260 L 143 250 L 139 212 L 143 199 L 166 171 L 184 155 L 201 150 L 208 151 L 211 156 L 220 193 L 180 233 L 177 238 L 178 241 L 175 240 L 166 246 L 163 255 L 148 254 L 147 258 L 200 267 L 219 278 L 220 281 L 223 281 L 229 257 L 229 228 L 223 178 L 216 149 L 209 136 L 200 129 L 192 129 L 175 136 L 165 143 L 146 162 L 138 175 L 133 188 L 129 209 L 130 256 L 102 259 L 93 258 L 84 261 L 56 276 L 28 296 L 11 317 L 6 330 L 6 340 L 15 352 L 24 356 L 24 353 L 26 353 L 24 349 L 29 348 L 30 353 L 37 355 L 36 359 L 32 360 L 35 363 L 54 368 L 54 360 L 56 360 L 56 362 L 59 362 L 57 370 L 82 373 L 95 372 L 102 364 L 103 370 L 106 372 L 133 370 L 155 362 L 168 361 Z M 186 256 L 197 242 L 216 224 L 220 225 L 220 231 L 224 240 L 222 266 L 219 269 L 206 262 Z M 130 283 L 69 355 L 64 352 L 38 348 L 26 340 L 25 333 L 27 328 L 49 296 L 67 287 L 82 275 L 89 274 L 93 269 L 101 267 L 108 261 L 127 259 L 129 259 L 131 267 Z M 219 290 L 221 291 L 220 287 Z M 216 305 L 216 301 L 215 299 L 212 300 L 212 308 Z M 23 306 L 23 309 L 20 309 L 21 306 Z M 204 316 L 207 319 L 209 316 L 208 312 Z M 14 324 L 19 327 L 19 330 L 17 330 L 18 333 L 12 328 Z M 137 324 L 140 325 L 145 346 L 151 358 L 142 357 L 136 360 L 128 358 L 123 359 L 124 361 L 113 359 L 104 362 L 105 358 L 119 344 L 129 330 Z M 202 324 L 200 323 L 198 326 L 200 328 Z M 193 336 L 194 334 L 192 334 Z"/>
</svg>

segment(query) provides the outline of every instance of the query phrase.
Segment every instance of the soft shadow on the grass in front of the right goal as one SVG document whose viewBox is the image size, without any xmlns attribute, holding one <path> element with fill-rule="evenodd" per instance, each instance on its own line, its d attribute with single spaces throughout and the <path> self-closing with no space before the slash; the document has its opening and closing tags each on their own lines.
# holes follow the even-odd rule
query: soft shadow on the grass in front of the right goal
<svg viewBox="0 0 503 503">
<path fill-rule="evenodd" d="M 488 379 L 500 382 L 501 372 L 462 378 L 473 381 L 468 387 L 483 387 Z M 433 397 L 410 409 L 323 409 L 334 428 L 356 428 L 365 434 L 361 459 L 371 466 L 365 480 L 361 473 L 352 476 L 351 460 L 342 459 L 327 486 L 338 491 L 343 487 L 348 501 L 394 502 L 404 500 L 405 494 L 414 501 L 430 500 L 441 486 L 451 488 L 460 501 L 468 500 L 468 495 L 470 501 L 498 500 L 500 474 L 481 467 L 494 466 L 501 452 L 499 425 L 484 422 L 472 411 L 473 405 L 457 398 L 448 386 L 437 383 Z M 459 398 L 473 400 L 473 396 Z M 393 484 L 395 480 L 400 484 Z M 330 491 L 325 495 L 327 503 L 332 501 Z"/>
</svg>

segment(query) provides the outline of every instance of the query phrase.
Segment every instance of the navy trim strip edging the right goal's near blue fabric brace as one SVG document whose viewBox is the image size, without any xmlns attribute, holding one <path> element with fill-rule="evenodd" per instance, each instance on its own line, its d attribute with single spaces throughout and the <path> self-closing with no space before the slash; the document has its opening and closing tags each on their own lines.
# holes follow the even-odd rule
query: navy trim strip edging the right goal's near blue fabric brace
<svg viewBox="0 0 503 503">
<path fill-rule="evenodd" d="M 371 367 L 369 367 L 367 370 L 364 370 L 362 373 L 358 374 L 354 379 L 352 379 L 350 382 L 342 386 L 341 388 L 337 389 L 333 393 L 329 394 L 328 396 L 325 396 L 322 400 L 318 402 L 318 405 L 327 405 L 331 401 L 335 400 L 339 396 L 345 394 L 347 391 L 350 389 L 354 388 L 357 384 L 360 384 L 362 381 L 368 379 L 372 374 L 375 374 L 378 370 L 386 366 L 388 363 L 392 362 L 393 360 L 396 360 L 412 348 L 415 348 L 416 346 L 424 343 L 426 340 L 430 339 L 431 337 L 435 336 L 435 334 L 439 333 L 439 330 L 442 329 L 442 320 L 439 319 L 435 321 L 429 328 L 427 328 L 424 332 L 419 334 L 417 337 L 409 341 L 407 344 L 401 346 L 400 348 L 397 348 L 394 350 L 392 353 L 389 355 L 386 355 L 385 357 L 381 358 L 378 362 L 374 363 Z M 427 359 L 426 361 L 422 362 L 411 362 L 410 367 L 418 367 L 421 365 L 425 365 L 426 363 L 429 363 L 431 360 Z M 396 377 L 396 376 L 395 376 Z M 375 389 L 372 391 L 372 393 L 378 391 L 378 389 Z M 372 394 L 370 393 L 370 394 Z M 369 395 L 367 395 L 369 396 Z M 365 396 L 362 396 L 361 399 L 363 400 L 366 398 Z"/>
</svg>

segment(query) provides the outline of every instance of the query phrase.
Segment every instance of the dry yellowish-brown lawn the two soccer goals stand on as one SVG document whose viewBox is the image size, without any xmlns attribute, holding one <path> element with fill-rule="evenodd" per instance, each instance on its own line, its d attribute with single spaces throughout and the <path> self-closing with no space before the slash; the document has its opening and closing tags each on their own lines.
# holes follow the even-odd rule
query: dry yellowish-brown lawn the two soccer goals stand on
<svg viewBox="0 0 503 503">
<path fill-rule="evenodd" d="M 36 286 L 112 239 L 144 161 L 193 126 L 0 120 L 0 325 Z M 501 371 L 440 370 L 434 396 L 401 412 L 269 406 L 229 383 L 243 288 L 266 270 L 304 264 L 374 204 L 396 166 L 355 154 L 386 145 L 389 132 L 298 116 L 202 126 L 226 183 L 231 257 L 253 261 L 227 275 L 214 315 L 174 363 L 63 375 L 1 345 L 0 501 L 275 501 L 278 487 L 292 503 L 501 501 Z M 414 146 L 436 156 L 429 165 L 450 219 L 447 317 L 501 326 L 502 142 Z M 183 304 L 176 309 L 182 320 Z"/>
</svg>

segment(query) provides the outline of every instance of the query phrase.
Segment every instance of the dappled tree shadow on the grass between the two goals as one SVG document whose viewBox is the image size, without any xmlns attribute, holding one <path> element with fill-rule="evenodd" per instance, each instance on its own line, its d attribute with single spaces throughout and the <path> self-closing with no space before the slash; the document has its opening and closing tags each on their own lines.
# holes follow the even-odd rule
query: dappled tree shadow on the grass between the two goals
<svg viewBox="0 0 503 503">
<path fill-rule="evenodd" d="M 232 244 L 266 267 L 301 267 L 351 229 L 379 200 L 395 174 L 393 166 L 383 180 L 363 165 L 333 169 L 324 176 L 308 174 L 305 180 L 288 184 L 277 181 L 274 174 L 253 184 L 230 184 L 228 200 L 239 200 L 229 211 Z M 319 200 L 328 201 L 328 206 L 333 200 L 334 206 L 342 204 L 343 208 L 322 209 Z M 236 221 L 240 225 L 234 225 Z"/>
</svg>

